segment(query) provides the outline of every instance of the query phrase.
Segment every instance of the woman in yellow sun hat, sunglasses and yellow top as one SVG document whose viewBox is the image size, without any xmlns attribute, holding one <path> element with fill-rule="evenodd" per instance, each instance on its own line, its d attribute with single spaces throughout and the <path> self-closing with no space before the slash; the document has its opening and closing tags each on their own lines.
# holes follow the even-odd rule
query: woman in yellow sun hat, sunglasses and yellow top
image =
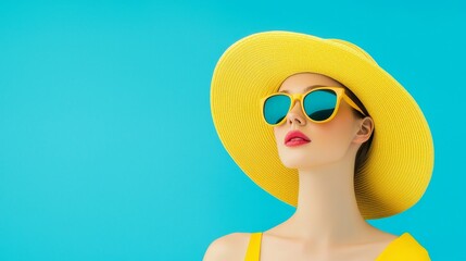
<svg viewBox="0 0 466 261">
<path fill-rule="evenodd" d="M 297 211 L 268 231 L 214 240 L 204 261 L 430 260 L 408 233 L 365 221 L 420 199 L 433 142 L 415 100 L 364 50 L 291 32 L 251 35 L 218 61 L 211 105 L 237 164 Z"/>
</svg>

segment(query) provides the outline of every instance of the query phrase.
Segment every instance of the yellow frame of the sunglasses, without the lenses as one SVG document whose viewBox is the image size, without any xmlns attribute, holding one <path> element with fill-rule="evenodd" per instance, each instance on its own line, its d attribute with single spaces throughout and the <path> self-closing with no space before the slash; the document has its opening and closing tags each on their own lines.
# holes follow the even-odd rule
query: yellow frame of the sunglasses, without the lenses
<svg viewBox="0 0 466 261">
<path fill-rule="evenodd" d="M 328 119 L 326 119 L 326 120 L 324 120 L 324 121 L 314 121 L 314 120 L 312 120 L 310 116 L 307 116 L 307 113 L 306 113 L 306 112 L 305 112 L 305 110 L 304 110 L 303 98 L 304 98 L 306 95 L 308 95 L 308 94 L 311 94 L 311 92 L 313 92 L 313 91 L 316 91 L 316 90 L 320 90 L 320 89 L 330 89 L 330 90 L 333 90 L 333 91 L 337 94 L 337 105 L 335 107 L 333 113 L 331 113 L 331 115 L 330 115 Z M 345 94 L 345 91 L 344 91 L 344 88 L 343 88 L 343 87 L 325 86 L 325 87 L 317 87 L 317 88 L 311 89 L 310 91 L 306 91 L 305 94 L 293 94 L 293 95 L 290 95 L 290 94 L 286 94 L 286 92 L 274 92 L 274 94 L 272 94 L 272 95 L 268 95 L 268 96 L 266 96 L 266 97 L 262 98 L 262 99 L 261 99 L 261 115 L 262 115 L 262 119 L 264 120 L 264 122 L 265 122 L 267 125 L 270 125 L 270 126 L 278 126 L 278 125 L 281 125 L 281 124 L 285 122 L 285 120 L 287 119 L 287 116 L 285 116 L 285 117 L 284 117 L 279 123 L 277 123 L 277 124 L 269 124 L 269 123 L 265 120 L 265 116 L 264 116 L 264 104 L 265 104 L 265 101 L 266 101 L 268 98 L 270 98 L 270 97 L 273 97 L 273 96 L 277 96 L 277 95 L 286 95 L 286 96 L 290 97 L 290 99 L 291 99 L 290 108 L 288 108 L 288 111 L 287 111 L 287 114 L 286 114 L 286 115 L 288 115 L 288 113 L 290 112 L 291 108 L 293 108 L 293 107 L 294 107 L 294 102 L 298 100 L 298 101 L 300 101 L 300 103 L 301 103 L 301 110 L 302 110 L 302 112 L 304 113 L 304 115 L 305 115 L 305 116 L 306 116 L 311 122 L 314 122 L 314 123 L 326 123 L 326 122 L 331 121 L 331 120 L 335 117 L 335 115 L 337 114 L 337 112 L 338 112 L 338 110 L 339 110 L 339 108 L 340 108 L 340 102 L 341 102 L 341 99 L 342 99 L 342 98 L 344 99 L 344 101 L 347 101 L 347 103 L 348 103 L 348 104 L 350 104 L 350 105 L 351 105 L 352 108 L 354 108 L 356 111 L 361 112 L 364 116 L 366 116 L 366 114 L 363 112 L 363 110 L 361 110 L 361 108 L 360 108 L 358 105 L 356 105 L 356 103 L 354 103 L 354 101 L 353 101 L 353 100 L 351 100 L 351 98 Z"/>
</svg>

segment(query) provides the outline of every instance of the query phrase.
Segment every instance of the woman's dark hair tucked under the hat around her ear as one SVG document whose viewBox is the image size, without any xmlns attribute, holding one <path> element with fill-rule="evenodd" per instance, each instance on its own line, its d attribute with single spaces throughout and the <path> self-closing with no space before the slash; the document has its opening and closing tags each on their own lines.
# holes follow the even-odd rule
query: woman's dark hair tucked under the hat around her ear
<svg viewBox="0 0 466 261">
<path fill-rule="evenodd" d="M 344 85 L 343 85 L 343 87 L 344 87 L 345 94 L 351 98 L 351 100 L 354 101 L 354 103 L 356 103 L 361 108 L 361 110 L 366 115 L 363 115 L 356 109 L 351 108 L 352 111 L 353 111 L 353 114 L 356 117 L 360 117 L 360 119 L 364 119 L 366 116 L 370 116 L 369 113 L 367 112 L 367 109 L 364 107 L 363 102 L 361 102 L 361 100 L 353 94 L 353 91 L 351 91 Z M 366 162 L 366 160 L 368 158 L 367 153 L 369 152 L 370 145 L 373 142 L 373 138 L 374 138 L 375 132 L 376 132 L 376 129 L 374 128 L 374 130 L 373 130 L 373 133 L 370 135 L 370 138 L 367 141 L 365 141 L 364 144 L 362 144 L 361 147 L 360 147 L 360 149 L 356 152 L 356 158 L 355 158 L 355 162 L 354 162 L 354 175 L 357 175 L 357 173 L 360 173 L 361 167 L 364 165 L 364 163 Z"/>
</svg>

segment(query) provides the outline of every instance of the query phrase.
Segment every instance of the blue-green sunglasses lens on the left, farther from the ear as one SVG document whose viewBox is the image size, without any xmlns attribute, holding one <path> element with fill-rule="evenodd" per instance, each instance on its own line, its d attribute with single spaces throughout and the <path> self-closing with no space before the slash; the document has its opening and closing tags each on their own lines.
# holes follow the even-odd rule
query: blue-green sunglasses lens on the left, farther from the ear
<svg viewBox="0 0 466 261">
<path fill-rule="evenodd" d="M 268 124 L 277 124 L 287 116 L 291 99 L 286 95 L 276 95 L 269 97 L 263 108 L 265 121 Z"/>
</svg>

